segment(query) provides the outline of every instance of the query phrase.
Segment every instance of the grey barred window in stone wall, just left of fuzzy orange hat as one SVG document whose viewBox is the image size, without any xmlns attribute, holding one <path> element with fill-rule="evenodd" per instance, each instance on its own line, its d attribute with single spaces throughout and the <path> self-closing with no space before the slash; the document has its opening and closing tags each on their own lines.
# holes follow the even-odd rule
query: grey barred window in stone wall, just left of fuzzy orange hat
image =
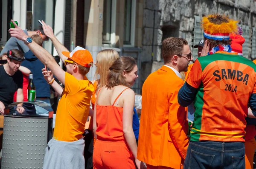
<svg viewBox="0 0 256 169">
<path fill-rule="evenodd" d="M 201 39 L 204 38 L 203 30 L 201 29 L 201 19 L 199 16 L 195 16 L 195 23 L 194 23 L 194 36 L 193 36 L 193 46 L 198 45 Z M 192 56 L 195 59 L 198 58 L 198 48 L 192 47 Z"/>
</svg>

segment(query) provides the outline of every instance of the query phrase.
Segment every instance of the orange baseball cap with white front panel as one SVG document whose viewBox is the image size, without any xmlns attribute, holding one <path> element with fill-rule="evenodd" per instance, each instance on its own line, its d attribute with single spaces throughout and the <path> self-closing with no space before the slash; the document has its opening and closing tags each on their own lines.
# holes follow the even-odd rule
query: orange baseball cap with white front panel
<svg viewBox="0 0 256 169">
<path fill-rule="evenodd" d="M 62 54 L 72 59 L 77 64 L 90 68 L 88 65 L 90 62 L 93 62 L 93 56 L 86 49 L 77 46 L 72 52 L 63 51 Z"/>
</svg>

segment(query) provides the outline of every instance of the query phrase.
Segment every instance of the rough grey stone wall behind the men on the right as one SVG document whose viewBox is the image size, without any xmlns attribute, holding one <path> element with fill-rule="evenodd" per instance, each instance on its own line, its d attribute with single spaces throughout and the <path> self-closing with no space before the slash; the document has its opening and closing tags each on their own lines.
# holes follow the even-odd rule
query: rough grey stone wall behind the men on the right
<svg viewBox="0 0 256 169">
<path fill-rule="evenodd" d="M 256 0 L 144 0 L 141 86 L 151 72 L 163 65 L 163 39 L 183 37 L 192 50 L 195 16 L 213 13 L 228 14 L 239 24 L 247 25 L 251 38 L 252 28 L 256 27 Z M 249 59 L 255 59 L 251 55 L 252 44 L 248 44 Z"/>
</svg>

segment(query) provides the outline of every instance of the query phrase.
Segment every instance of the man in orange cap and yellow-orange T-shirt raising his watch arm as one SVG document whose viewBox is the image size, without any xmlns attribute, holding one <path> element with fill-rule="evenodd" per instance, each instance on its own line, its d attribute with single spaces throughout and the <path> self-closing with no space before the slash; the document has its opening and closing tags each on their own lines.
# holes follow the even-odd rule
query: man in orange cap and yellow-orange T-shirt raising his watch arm
<svg viewBox="0 0 256 169">
<path fill-rule="evenodd" d="M 53 138 L 46 148 L 43 169 L 84 168 L 84 126 L 90 108 L 93 84 L 86 78 L 93 58 L 89 51 L 76 47 L 71 53 L 62 52 L 67 57 L 67 72 L 61 69 L 51 54 L 33 42 L 12 20 L 15 28 L 10 28 L 12 37 L 22 40 L 35 56 L 51 71 L 43 69 L 47 82 L 61 96 L 58 103 Z M 43 28 L 47 25 L 43 25 Z M 54 80 L 53 75 L 65 85 L 64 89 Z"/>
</svg>

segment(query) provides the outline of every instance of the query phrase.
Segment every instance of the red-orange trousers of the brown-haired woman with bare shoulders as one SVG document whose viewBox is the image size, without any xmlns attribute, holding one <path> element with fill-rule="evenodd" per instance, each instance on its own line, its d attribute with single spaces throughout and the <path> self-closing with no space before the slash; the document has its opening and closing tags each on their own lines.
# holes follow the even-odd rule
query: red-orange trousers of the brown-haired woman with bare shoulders
<svg viewBox="0 0 256 169">
<path fill-rule="evenodd" d="M 135 169 L 134 156 L 124 141 L 96 140 L 93 169 Z"/>
</svg>

